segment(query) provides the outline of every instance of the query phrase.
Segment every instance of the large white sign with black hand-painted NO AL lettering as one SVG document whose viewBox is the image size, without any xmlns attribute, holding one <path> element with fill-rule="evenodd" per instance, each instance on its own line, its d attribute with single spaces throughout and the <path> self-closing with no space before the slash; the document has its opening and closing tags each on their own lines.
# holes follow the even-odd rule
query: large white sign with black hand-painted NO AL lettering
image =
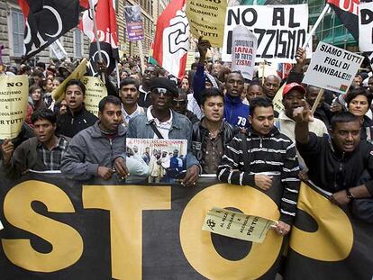
<svg viewBox="0 0 373 280">
<path fill-rule="evenodd" d="M 239 5 L 229 7 L 225 19 L 223 61 L 232 61 L 232 31 L 246 26 L 258 38 L 256 62 L 295 63 L 296 49 L 307 37 L 308 5 Z M 306 53 L 311 56 L 312 43 Z"/>
</svg>

